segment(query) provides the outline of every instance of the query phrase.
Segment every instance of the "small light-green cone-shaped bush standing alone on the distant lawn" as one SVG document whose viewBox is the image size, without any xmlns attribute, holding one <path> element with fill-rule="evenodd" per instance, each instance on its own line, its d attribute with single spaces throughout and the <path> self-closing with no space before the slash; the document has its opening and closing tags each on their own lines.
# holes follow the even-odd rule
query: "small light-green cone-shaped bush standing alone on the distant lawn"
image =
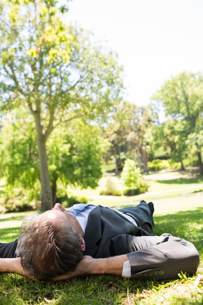
<svg viewBox="0 0 203 305">
<path fill-rule="evenodd" d="M 136 166 L 134 160 L 127 159 L 121 172 L 121 179 L 127 187 L 125 194 L 138 194 L 148 190 L 148 184 L 144 180 L 141 170 Z"/>
</svg>

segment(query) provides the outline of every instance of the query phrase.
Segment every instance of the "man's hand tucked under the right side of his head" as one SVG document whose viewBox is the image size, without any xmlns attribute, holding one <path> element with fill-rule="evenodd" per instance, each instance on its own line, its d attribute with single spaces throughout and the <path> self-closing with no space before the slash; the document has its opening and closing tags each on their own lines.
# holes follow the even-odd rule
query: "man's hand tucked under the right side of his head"
<svg viewBox="0 0 203 305">
<path fill-rule="evenodd" d="M 90 268 L 91 268 L 94 260 L 95 259 L 92 258 L 92 256 L 84 255 L 82 260 L 77 264 L 74 272 L 59 275 L 59 276 L 53 278 L 53 281 L 68 281 L 75 277 L 81 277 L 81 276 L 86 276 L 88 274 L 91 274 Z"/>
</svg>

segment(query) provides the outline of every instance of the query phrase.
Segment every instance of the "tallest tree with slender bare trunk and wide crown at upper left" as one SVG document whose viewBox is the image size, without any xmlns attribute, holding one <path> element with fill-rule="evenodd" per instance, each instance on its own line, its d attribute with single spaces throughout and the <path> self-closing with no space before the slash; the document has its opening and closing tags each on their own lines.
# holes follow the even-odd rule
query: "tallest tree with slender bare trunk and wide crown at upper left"
<svg viewBox="0 0 203 305">
<path fill-rule="evenodd" d="M 0 0 L 0 110 L 27 107 L 35 122 L 41 210 L 53 206 L 47 139 L 80 117 L 104 119 L 121 98 L 117 56 L 90 34 L 67 26 L 57 0 Z"/>
</svg>

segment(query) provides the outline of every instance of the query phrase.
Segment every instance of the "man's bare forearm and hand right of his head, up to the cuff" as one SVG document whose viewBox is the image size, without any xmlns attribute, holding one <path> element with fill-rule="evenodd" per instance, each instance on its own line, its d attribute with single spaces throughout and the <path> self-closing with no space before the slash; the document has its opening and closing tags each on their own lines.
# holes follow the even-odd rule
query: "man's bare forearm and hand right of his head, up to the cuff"
<svg viewBox="0 0 203 305">
<path fill-rule="evenodd" d="M 73 273 L 55 277 L 53 280 L 67 281 L 74 277 L 81 277 L 90 274 L 112 274 L 121 276 L 123 264 L 128 260 L 126 254 L 107 258 L 92 258 L 92 256 L 84 255 Z"/>
</svg>

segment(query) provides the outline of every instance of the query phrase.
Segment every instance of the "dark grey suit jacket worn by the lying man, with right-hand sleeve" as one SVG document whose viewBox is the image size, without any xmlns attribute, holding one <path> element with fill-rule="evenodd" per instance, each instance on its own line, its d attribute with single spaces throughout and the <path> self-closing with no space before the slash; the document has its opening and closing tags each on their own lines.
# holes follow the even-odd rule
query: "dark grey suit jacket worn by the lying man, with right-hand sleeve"
<svg viewBox="0 0 203 305">
<path fill-rule="evenodd" d="M 137 210 L 139 208 L 147 210 L 144 218 L 143 213 Z M 170 234 L 153 235 L 152 217 L 146 203 L 122 211 L 137 216 L 141 228 L 134 226 L 120 213 L 97 206 L 88 217 L 84 255 L 100 258 L 127 254 L 131 277 L 142 280 L 175 279 L 181 271 L 190 275 L 196 272 L 199 253 L 194 245 Z M 143 230 L 142 226 L 148 230 Z"/>
</svg>

